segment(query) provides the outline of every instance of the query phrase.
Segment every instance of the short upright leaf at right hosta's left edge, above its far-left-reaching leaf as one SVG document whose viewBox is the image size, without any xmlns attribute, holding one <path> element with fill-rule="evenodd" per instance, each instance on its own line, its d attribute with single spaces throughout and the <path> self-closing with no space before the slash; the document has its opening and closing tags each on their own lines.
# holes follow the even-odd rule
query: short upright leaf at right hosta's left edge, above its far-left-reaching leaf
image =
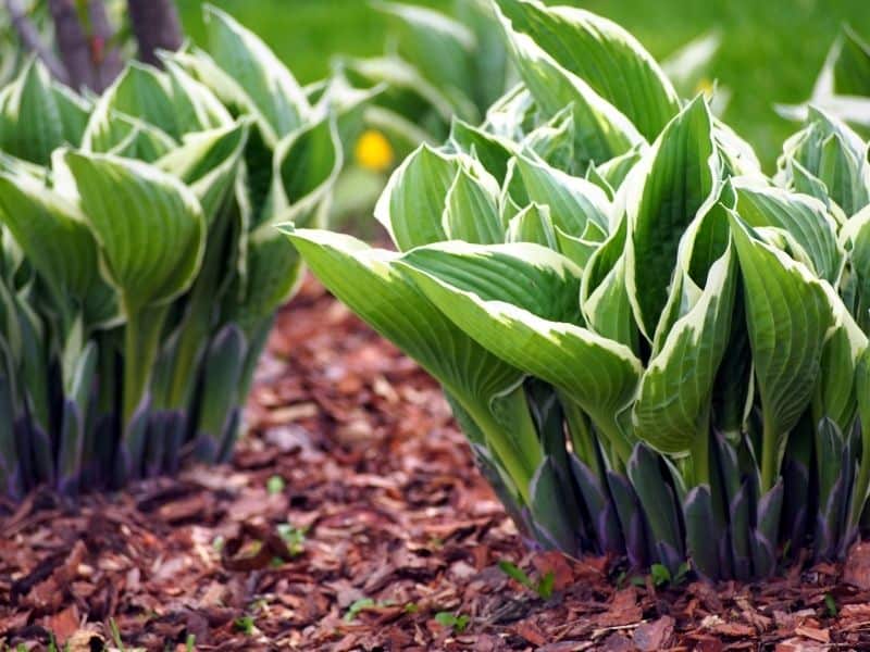
<svg viewBox="0 0 870 652">
<path fill-rule="evenodd" d="M 400 251 L 447 238 L 442 222 L 445 197 L 458 172 L 457 155 L 424 143 L 393 173 L 374 216 Z"/>
</svg>

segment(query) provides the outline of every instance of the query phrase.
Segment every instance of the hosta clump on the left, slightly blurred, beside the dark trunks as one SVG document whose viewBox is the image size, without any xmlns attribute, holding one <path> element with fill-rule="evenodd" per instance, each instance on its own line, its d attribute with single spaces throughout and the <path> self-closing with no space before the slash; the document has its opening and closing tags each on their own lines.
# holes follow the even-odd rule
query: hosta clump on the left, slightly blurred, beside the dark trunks
<svg viewBox="0 0 870 652">
<path fill-rule="evenodd" d="M 116 487 L 226 460 L 316 224 L 353 96 L 312 104 L 207 11 L 208 53 L 83 98 L 30 63 L 0 91 L 0 491 Z M 206 84 L 204 82 L 208 82 Z"/>
</svg>

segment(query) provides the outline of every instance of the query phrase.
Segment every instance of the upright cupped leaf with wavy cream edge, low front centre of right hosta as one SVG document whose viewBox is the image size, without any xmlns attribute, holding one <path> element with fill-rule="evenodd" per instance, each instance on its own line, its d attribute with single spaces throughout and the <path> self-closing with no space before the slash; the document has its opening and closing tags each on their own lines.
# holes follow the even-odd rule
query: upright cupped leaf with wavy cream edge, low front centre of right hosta
<svg viewBox="0 0 870 652">
<path fill-rule="evenodd" d="M 709 437 L 712 387 L 731 333 L 735 258 L 729 248 L 713 263 L 700 297 L 669 329 L 644 372 L 634 432 L 659 451 L 684 453 Z"/>
</svg>

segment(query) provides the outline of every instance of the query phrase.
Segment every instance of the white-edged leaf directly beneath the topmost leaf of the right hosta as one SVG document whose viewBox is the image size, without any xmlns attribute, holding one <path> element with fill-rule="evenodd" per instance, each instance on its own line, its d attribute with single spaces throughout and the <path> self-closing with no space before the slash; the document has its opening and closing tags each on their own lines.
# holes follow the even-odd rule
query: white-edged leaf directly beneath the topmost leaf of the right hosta
<svg viewBox="0 0 870 652">
<path fill-rule="evenodd" d="M 509 17 L 499 14 L 513 61 L 535 102 L 554 116 L 573 106 L 574 153 L 577 163 L 602 163 L 624 154 L 644 137 L 619 109 L 598 95 L 583 78 L 566 70 Z"/>
</svg>

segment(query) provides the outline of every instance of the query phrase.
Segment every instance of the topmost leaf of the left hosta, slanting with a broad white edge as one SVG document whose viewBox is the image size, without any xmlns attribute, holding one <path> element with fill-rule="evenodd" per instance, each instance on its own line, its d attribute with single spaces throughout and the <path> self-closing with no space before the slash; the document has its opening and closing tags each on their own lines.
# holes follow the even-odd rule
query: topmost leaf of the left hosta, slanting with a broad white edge
<svg viewBox="0 0 870 652">
<path fill-rule="evenodd" d="M 245 90 L 275 134 L 297 129 L 311 108 L 287 67 L 257 35 L 213 5 L 206 7 L 206 26 L 214 63 Z"/>
</svg>

